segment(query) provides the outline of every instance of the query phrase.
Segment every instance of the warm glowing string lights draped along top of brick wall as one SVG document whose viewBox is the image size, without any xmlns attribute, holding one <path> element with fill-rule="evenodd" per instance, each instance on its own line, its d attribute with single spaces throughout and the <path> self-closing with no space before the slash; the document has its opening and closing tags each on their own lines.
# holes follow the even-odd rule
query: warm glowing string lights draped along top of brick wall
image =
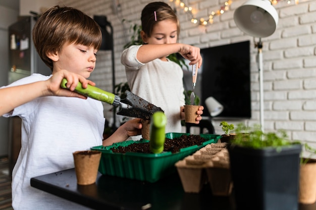
<svg viewBox="0 0 316 210">
<path fill-rule="evenodd" d="M 277 5 L 279 2 L 284 2 L 286 1 L 287 4 L 291 4 L 292 0 L 269 0 L 271 2 L 271 4 L 273 5 Z M 183 11 L 189 15 L 191 15 L 191 23 L 194 24 L 199 24 L 199 25 L 207 25 L 207 24 L 213 24 L 214 22 L 214 17 L 216 16 L 220 16 L 222 14 L 224 14 L 226 11 L 229 10 L 229 6 L 232 4 L 232 0 L 228 0 L 224 3 L 223 6 L 221 6 L 221 8 L 217 11 L 212 11 L 210 13 L 210 15 L 208 15 L 208 20 L 205 20 L 204 18 L 200 18 L 199 20 L 197 20 L 195 18 L 195 15 L 193 14 L 193 8 L 187 6 L 185 3 L 181 2 L 181 0 L 170 0 L 170 2 L 175 3 L 176 5 L 178 5 L 181 9 L 183 9 Z M 299 0 L 294 0 L 294 3 L 297 5 L 299 3 Z M 197 11 L 197 10 L 196 10 Z"/>
</svg>

